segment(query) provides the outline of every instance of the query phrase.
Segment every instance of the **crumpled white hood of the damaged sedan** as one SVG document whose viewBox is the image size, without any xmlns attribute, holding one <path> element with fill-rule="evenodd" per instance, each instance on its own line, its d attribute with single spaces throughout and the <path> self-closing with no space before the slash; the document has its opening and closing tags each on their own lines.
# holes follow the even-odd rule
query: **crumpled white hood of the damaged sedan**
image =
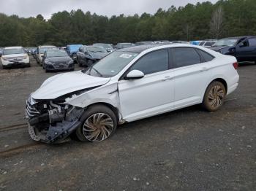
<svg viewBox="0 0 256 191">
<path fill-rule="evenodd" d="M 83 90 L 89 87 L 105 85 L 110 78 L 92 77 L 81 71 L 57 74 L 42 83 L 41 87 L 31 94 L 34 99 L 55 99 L 61 95 Z"/>
</svg>

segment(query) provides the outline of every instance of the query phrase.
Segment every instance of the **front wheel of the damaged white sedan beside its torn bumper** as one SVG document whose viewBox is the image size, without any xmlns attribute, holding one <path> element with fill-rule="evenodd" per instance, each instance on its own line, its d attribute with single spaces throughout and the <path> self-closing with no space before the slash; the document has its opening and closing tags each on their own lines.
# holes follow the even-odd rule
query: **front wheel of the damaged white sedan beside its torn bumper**
<svg viewBox="0 0 256 191">
<path fill-rule="evenodd" d="M 104 141 L 116 131 L 116 115 L 108 106 L 102 104 L 86 109 L 80 121 L 81 125 L 75 134 L 83 142 Z"/>
</svg>

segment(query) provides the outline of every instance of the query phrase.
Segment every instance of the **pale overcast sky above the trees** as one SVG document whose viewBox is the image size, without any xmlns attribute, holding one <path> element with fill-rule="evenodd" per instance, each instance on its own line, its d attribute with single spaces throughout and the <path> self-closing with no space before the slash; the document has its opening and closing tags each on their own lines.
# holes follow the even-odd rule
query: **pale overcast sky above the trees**
<svg viewBox="0 0 256 191">
<path fill-rule="evenodd" d="M 0 12 L 20 17 L 35 17 L 42 14 L 46 19 L 59 11 L 82 9 L 97 15 L 134 15 L 143 12 L 154 14 L 157 9 L 168 9 L 171 5 L 185 6 L 203 0 L 0 0 Z M 217 0 L 209 0 L 215 3 Z"/>
</svg>

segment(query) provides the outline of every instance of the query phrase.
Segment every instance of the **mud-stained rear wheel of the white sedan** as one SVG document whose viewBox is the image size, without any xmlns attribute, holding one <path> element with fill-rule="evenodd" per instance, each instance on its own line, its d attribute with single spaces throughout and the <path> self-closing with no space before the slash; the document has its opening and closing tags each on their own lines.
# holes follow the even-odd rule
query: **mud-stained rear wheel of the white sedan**
<svg viewBox="0 0 256 191">
<path fill-rule="evenodd" d="M 206 88 L 202 105 L 209 112 L 215 112 L 224 104 L 225 96 L 226 88 L 222 82 L 211 82 L 211 84 Z"/>
</svg>

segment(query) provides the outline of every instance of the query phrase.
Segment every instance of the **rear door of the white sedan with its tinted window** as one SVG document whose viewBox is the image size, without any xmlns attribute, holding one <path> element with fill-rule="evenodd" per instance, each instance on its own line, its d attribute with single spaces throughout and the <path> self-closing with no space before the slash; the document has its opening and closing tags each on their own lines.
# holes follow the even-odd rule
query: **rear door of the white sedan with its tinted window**
<svg viewBox="0 0 256 191">
<path fill-rule="evenodd" d="M 199 104 L 211 77 L 214 57 L 193 47 L 176 47 L 172 52 L 175 108 Z"/>
</svg>

